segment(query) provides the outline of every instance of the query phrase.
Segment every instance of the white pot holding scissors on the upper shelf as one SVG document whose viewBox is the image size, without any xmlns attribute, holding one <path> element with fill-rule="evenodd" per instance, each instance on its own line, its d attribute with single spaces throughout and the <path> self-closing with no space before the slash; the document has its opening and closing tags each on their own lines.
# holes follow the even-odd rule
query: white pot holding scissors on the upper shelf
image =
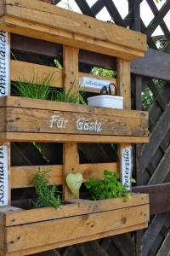
<svg viewBox="0 0 170 256">
<path fill-rule="evenodd" d="M 103 108 L 123 109 L 123 97 L 111 95 L 99 95 L 88 97 L 88 105 Z"/>
</svg>

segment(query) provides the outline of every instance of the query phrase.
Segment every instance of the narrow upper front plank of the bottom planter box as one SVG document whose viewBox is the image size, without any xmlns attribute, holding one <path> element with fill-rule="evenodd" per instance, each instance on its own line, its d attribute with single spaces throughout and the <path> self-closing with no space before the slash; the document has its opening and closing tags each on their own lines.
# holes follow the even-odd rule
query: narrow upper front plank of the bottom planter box
<svg viewBox="0 0 170 256">
<path fill-rule="evenodd" d="M 39 209 L 22 210 L 20 208 L 8 207 L 4 208 L 1 215 L 4 217 L 0 218 L 0 224 L 6 226 L 15 226 L 20 224 L 29 224 L 35 222 L 42 222 L 45 220 L 67 218 L 71 216 L 77 216 L 81 214 L 90 214 L 93 212 L 105 212 L 110 210 L 117 210 L 120 208 L 129 208 L 137 206 L 146 206 L 147 217 L 149 218 L 149 197 L 148 195 L 138 194 L 131 195 L 128 201 L 124 201 L 122 198 L 116 198 L 112 200 L 103 201 L 83 201 L 75 200 L 69 201 L 67 205 L 59 207 L 55 210 L 52 207 L 45 207 Z M 6 209 L 6 211 L 5 211 Z"/>
</svg>

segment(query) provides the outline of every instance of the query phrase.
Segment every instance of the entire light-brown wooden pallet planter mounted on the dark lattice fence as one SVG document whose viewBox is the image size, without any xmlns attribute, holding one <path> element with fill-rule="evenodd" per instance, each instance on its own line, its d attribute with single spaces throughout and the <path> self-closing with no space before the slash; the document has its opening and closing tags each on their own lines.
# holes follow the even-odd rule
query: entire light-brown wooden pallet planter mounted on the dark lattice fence
<svg viewBox="0 0 170 256">
<path fill-rule="evenodd" d="M 132 195 L 126 202 L 122 198 L 81 200 L 79 195 L 71 195 L 65 177 L 70 172 L 82 172 L 85 180 L 102 178 L 105 169 L 120 173 L 122 148 L 149 141 L 148 113 L 131 110 L 130 103 L 130 60 L 144 55 L 145 36 L 37 0 L 0 0 L 0 7 L 1 30 L 63 44 L 63 68 L 9 60 L 12 81 L 29 80 L 33 73 L 39 77 L 54 73 L 50 86 L 68 90 L 83 77 L 103 80 L 78 71 L 79 49 L 90 49 L 116 57 L 117 77 L 105 79 L 108 84 L 116 84 L 117 94 L 124 98 L 124 109 L 118 110 L 21 98 L 10 93 L 0 97 L 0 143 L 7 145 L 8 152 L 11 142 L 63 143 L 63 165 L 47 167 L 52 170 L 49 183 L 63 185 L 65 201 L 57 210 L 12 207 L 11 189 L 33 186 L 31 180 L 38 166 L 11 166 L 8 157 L 9 196 L 8 206 L 0 207 L 0 256 L 30 255 L 144 229 L 149 220 L 148 195 Z M 83 90 L 99 93 L 95 87 Z M 120 160 L 80 164 L 77 143 L 119 143 Z"/>
</svg>

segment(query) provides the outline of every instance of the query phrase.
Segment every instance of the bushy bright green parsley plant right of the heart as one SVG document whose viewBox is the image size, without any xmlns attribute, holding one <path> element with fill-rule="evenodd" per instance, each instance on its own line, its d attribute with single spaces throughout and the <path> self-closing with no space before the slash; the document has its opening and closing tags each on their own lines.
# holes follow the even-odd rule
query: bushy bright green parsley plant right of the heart
<svg viewBox="0 0 170 256">
<path fill-rule="evenodd" d="M 119 175 L 116 172 L 105 170 L 103 180 L 90 177 L 88 182 L 85 183 L 85 186 L 90 190 L 92 200 L 123 197 L 126 201 L 130 197 L 127 186 L 119 181 Z"/>
</svg>

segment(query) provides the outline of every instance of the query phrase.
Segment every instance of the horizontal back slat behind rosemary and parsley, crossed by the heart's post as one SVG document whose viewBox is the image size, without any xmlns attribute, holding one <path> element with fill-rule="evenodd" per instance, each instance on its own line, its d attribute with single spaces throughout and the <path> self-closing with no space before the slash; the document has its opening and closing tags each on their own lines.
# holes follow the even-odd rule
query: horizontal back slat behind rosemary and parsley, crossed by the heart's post
<svg viewBox="0 0 170 256">
<path fill-rule="evenodd" d="M 11 167 L 11 189 L 32 187 L 31 181 L 38 170 L 50 171 L 48 183 L 62 184 L 62 166 L 13 166 Z M 103 178 L 104 170 L 118 172 L 116 163 L 82 164 L 78 166 L 77 170 L 82 172 L 84 180 L 88 180 L 91 176 Z"/>
</svg>

